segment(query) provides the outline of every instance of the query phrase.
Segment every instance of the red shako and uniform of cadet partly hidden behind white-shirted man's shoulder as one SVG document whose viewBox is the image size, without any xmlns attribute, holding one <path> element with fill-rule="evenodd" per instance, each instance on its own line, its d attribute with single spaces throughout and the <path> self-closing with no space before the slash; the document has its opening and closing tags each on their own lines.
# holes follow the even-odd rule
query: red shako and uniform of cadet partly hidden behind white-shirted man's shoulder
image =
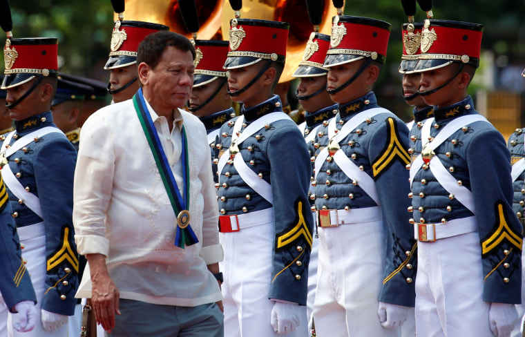
<svg viewBox="0 0 525 337">
<path fill-rule="evenodd" d="M 220 93 L 222 86 L 226 83 L 227 77 L 226 72 L 222 69 L 222 66 L 226 61 L 226 54 L 228 52 L 228 41 L 216 41 L 216 40 L 195 40 L 195 52 L 196 57 L 193 64 L 195 64 L 195 73 L 193 73 L 193 88 L 207 85 L 212 81 L 221 81 L 218 89 L 210 97 L 208 97 L 204 103 L 200 104 L 195 108 L 189 108 L 192 113 L 203 106 L 209 104 L 211 100 Z M 220 126 L 228 122 L 232 117 L 235 117 L 235 111 L 233 108 L 227 110 L 218 111 L 204 117 L 199 117 L 200 122 L 206 127 L 206 133 L 208 135 L 208 144 L 211 148 L 211 160 L 216 153 L 215 143 L 219 135 Z M 217 163 L 213 163 L 213 180 L 218 182 L 217 175 Z"/>
</svg>

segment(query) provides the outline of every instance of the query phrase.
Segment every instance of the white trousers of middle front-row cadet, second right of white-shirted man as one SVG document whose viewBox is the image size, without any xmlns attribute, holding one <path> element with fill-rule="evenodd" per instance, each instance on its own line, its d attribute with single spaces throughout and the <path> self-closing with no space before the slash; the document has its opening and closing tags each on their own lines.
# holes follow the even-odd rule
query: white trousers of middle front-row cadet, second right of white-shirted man
<svg viewBox="0 0 525 337">
<path fill-rule="evenodd" d="M 314 322 L 320 337 L 397 337 L 377 309 L 385 247 L 381 220 L 318 227 L 319 258 Z"/>
</svg>

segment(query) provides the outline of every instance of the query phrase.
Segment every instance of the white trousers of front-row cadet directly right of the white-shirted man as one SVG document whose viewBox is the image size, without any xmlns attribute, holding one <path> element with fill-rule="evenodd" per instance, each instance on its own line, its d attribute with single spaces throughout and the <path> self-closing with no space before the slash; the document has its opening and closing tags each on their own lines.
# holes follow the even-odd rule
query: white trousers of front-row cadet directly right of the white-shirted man
<svg viewBox="0 0 525 337">
<path fill-rule="evenodd" d="M 222 304 L 225 307 L 225 337 L 281 336 L 271 327 L 274 301 L 268 299 L 271 283 L 271 253 L 274 224 L 262 224 L 235 233 L 220 233 L 225 258 L 219 263 L 224 274 Z M 303 319 L 287 337 L 308 336 L 306 307 Z"/>
</svg>

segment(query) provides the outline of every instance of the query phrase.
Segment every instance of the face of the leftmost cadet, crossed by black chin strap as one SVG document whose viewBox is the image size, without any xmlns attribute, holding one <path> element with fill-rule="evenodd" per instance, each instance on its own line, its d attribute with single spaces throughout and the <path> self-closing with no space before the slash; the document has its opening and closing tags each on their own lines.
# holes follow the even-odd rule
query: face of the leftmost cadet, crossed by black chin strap
<svg viewBox="0 0 525 337">
<path fill-rule="evenodd" d="M 9 88 L 8 95 L 6 97 L 6 102 L 8 104 L 15 103 L 23 94 L 26 93 L 27 90 L 29 90 L 33 84 L 35 83 L 37 79 L 32 79 L 26 83 L 20 84 L 19 86 L 15 86 L 13 88 Z M 32 90 L 32 92 L 22 100 L 19 104 L 17 104 L 14 108 L 8 109 L 9 111 L 9 117 L 15 121 L 21 121 L 22 119 L 29 118 L 33 115 L 36 115 L 38 112 L 35 110 L 35 106 L 41 106 L 41 97 L 40 97 L 40 89 L 42 87 L 42 84 L 39 84 L 35 90 Z M 41 113 L 42 111 L 40 111 Z"/>
</svg>

